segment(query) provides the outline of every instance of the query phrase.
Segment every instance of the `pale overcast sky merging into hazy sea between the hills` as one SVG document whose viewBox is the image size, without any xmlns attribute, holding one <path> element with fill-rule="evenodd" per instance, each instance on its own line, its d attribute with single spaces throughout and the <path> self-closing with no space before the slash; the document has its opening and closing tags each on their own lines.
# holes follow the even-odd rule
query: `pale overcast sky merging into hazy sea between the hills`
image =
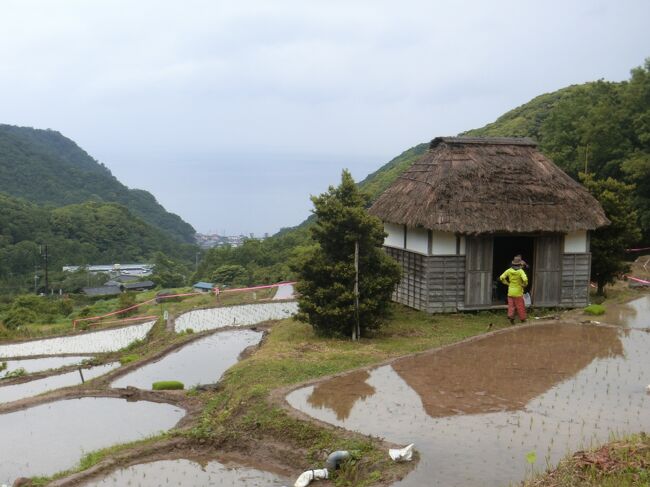
<svg viewBox="0 0 650 487">
<path fill-rule="evenodd" d="M 405 149 L 650 56 L 650 1 L 0 0 L 0 123 L 199 232 L 273 233 Z"/>
</svg>

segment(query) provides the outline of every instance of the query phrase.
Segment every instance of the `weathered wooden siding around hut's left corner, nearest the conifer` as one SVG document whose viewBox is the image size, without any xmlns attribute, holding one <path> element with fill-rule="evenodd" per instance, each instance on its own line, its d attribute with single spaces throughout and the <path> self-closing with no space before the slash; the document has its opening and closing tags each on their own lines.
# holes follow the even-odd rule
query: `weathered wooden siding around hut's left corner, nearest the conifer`
<svg viewBox="0 0 650 487">
<path fill-rule="evenodd" d="M 465 297 L 465 256 L 427 256 L 384 247 L 402 267 L 393 300 L 430 313 L 453 312 Z"/>
</svg>

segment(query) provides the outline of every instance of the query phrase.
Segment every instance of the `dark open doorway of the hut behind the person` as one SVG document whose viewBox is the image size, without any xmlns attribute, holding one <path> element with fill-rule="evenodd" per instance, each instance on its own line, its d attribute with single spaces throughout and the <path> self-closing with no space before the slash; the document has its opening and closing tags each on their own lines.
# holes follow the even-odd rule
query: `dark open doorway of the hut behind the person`
<svg viewBox="0 0 650 487">
<path fill-rule="evenodd" d="M 528 276 L 528 288 L 533 285 L 535 239 L 533 237 L 494 237 L 494 251 L 492 257 L 492 303 L 505 304 L 508 301 L 508 288 L 501 284 L 499 276 L 510 267 L 515 255 L 521 255 L 529 267 L 524 267 Z"/>
</svg>

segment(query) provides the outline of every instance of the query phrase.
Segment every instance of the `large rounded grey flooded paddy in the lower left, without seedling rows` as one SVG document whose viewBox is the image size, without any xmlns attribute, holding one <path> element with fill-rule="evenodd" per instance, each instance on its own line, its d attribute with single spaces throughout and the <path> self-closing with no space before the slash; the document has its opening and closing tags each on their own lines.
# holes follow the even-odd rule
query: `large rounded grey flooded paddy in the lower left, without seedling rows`
<svg viewBox="0 0 650 487">
<path fill-rule="evenodd" d="M 169 404 L 82 398 L 0 415 L 0 484 L 51 475 L 85 452 L 172 428 L 185 411 Z"/>
</svg>

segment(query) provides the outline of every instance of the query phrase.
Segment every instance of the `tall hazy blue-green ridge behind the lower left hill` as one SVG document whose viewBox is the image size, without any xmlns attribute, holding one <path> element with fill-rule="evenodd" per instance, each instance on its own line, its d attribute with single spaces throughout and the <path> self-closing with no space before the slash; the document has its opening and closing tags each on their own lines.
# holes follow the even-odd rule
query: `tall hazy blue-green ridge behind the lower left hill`
<svg viewBox="0 0 650 487">
<path fill-rule="evenodd" d="M 124 205 L 145 222 L 183 242 L 194 228 L 143 190 L 129 189 L 103 164 L 53 130 L 0 124 L 0 193 L 63 206 L 86 201 Z"/>
</svg>

